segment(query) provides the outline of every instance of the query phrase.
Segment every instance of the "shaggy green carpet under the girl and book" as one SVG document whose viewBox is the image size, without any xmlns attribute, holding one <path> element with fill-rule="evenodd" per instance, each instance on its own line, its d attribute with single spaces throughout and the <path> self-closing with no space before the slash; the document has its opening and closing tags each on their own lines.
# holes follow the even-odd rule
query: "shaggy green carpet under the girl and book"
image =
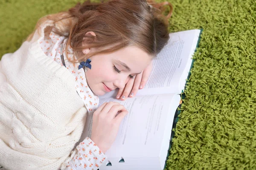
<svg viewBox="0 0 256 170">
<path fill-rule="evenodd" d="M 0 0 L 0 56 L 76 0 Z M 201 29 L 168 170 L 256 169 L 256 1 L 169 0 L 170 32 Z"/>
</svg>

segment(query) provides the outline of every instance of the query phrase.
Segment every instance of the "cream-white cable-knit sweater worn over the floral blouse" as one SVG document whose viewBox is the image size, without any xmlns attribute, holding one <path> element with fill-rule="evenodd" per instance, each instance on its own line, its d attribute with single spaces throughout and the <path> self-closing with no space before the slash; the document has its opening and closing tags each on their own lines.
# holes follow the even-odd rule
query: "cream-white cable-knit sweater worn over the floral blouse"
<svg viewBox="0 0 256 170">
<path fill-rule="evenodd" d="M 0 165 L 6 169 L 59 169 L 86 120 L 73 75 L 44 54 L 38 36 L 0 61 Z"/>
</svg>

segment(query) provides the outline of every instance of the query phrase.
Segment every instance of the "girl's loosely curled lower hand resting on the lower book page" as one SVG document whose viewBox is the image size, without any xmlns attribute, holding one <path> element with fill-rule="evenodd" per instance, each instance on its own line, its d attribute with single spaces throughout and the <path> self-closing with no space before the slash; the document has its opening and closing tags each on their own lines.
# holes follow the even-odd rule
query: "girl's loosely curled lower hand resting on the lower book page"
<svg viewBox="0 0 256 170">
<path fill-rule="evenodd" d="M 118 115 L 116 115 L 119 112 Z M 106 153 L 113 144 L 119 125 L 128 111 L 117 102 L 105 102 L 93 113 L 91 140 Z"/>
</svg>

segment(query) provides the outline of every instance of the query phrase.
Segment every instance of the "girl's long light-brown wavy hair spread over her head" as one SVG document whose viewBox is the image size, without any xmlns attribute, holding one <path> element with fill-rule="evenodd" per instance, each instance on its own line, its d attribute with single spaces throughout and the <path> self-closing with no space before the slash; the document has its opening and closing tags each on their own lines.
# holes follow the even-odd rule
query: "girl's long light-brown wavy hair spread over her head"
<svg viewBox="0 0 256 170">
<path fill-rule="evenodd" d="M 166 5 L 170 7 L 167 16 L 162 14 Z M 87 0 L 66 12 L 42 17 L 35 31 L 39 31 L 38 28 L 46 20 L 52 20 L 52 31 L 67 37 L 67 45 L 70 45 L 78 61 L 112 53 L 126 46 L 137 46 L 155 57 L 169 40 L 168 25 L 172 10 L 171 3 L 155 3 L 154 0 L 101 0 L 99 3 Z M 26 40 L 31 40 L 35 31 Z M 96 36 L 85 35 L 87 32 L 94 32 Z M 97 50 L 85 57 L 82 52 L 85 48 Z"/>
</svg>

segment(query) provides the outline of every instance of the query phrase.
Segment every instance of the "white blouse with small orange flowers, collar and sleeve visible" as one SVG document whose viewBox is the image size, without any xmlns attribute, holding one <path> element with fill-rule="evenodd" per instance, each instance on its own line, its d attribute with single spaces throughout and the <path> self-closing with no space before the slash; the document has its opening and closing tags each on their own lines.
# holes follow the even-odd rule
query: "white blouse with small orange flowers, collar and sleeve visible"
<svg viewBox="0 0 256 170">
<path fill-rule="evenodd" d="M 57 63 L 65 66 L 74 75 L 76 80 L 76 91 L 84 101 L 84 105 L 88 110 L 88 114 L 93 114 L 93 112 L 98 108 L 99 98 L 89 88 L 84 69 L 78 69 L 79 63 L 71 63 L 67 58 L 74 59 L 72 49 L 68 48 L 66 56 L 65 53 L 65 43 L 67 39 L 64 36 L 59 36 L 54 32 L 45 33 L 44 40 L 40 42 L 41 49 L 44 51 L 45 55 Z M 62 61 L 64 60 L 64 62 Z M 63 64 L 64 63 L 64 64 Z M 76 147 L 76 154 L 68 162 L 67 170 L 97 170 L 106 159 L 106 156 L 96 144 L 90 138 L 85 138 Z"/>
</svg>

